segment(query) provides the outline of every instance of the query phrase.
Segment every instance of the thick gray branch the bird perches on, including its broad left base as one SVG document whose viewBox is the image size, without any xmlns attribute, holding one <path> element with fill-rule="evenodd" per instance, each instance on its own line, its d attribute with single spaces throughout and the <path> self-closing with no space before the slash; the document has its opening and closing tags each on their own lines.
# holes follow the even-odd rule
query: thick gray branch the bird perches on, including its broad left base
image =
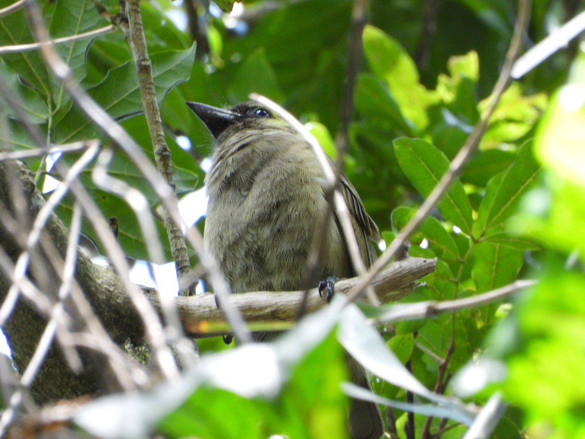
<svg viewBox="0 0 585 439">
<path fill-rule="evenodd" d="M 34 218 L 45 204 L 45 200 L 35 186 L 32 172 L 20 162 L 0 162 L 0 188 L 2 188 L 0 190 L 0 210 L 3 215 L 9 215 L 12 218 L 17 216 L 13 207 L 14 200 L 11 189 L 15 186 L 20 187 L 19 198 L 21 201 L 26 201 L 20 206 L 20 210 L 24 210 L 27 217 Z M 12 260 L 18 258 L 20 253 L 20 243 L 18 239 L 15 239 L 15 236 L 18 238 L 19 234 L 26 234 L 26 231 L 26 227 L 20 231 L 6 228 L 6 222 L 2 221 L 0 248 Z M 53 262 L 55 258 L 63 259 L 69 241 L 68 230 L 55 214 L 50 215 L 44 234 L 56 249 L 56 254 L 51 255 Z M 40 248 L 38 253 L 44 255 Z M 50 301 L 54 301 L 53 291 L 47 290 L 47 284 L 50 284 L 51 276 L 57 278 L 60 275 L 55 272 L 53 263 L 48 259 L 46 256 L 36 258 L 31 263 L 28 277 L 30 281 L 38 284 L 39 291 L 47 294 Z M 404 297 L 412 290 L 415 280 L 432 272 L 435 263 L 434 259 L 422 258 L 407 258 L 394 262 L 385 267 L 374 279 L 374 291 L 383 301 Z M 45 275 L 42 278 L 43 276 L 38 273 L 50 273 L 50 275 Z M 120 346 L 127 341 L 132 341 L 135 344 L 143 341 L 143 320 L 126 293 L 121 279 L 110 267 L 96 265 L 84 252 L 78 251 L 75 282 L 87 297 L 92 310 L 113 341 Z M 345 293 L 352 289 L 357 282 L 359 282 L 358 277 L 341 280 L 336 284 L 336 292 Z M 11 284 L 11 273 L 0 270 L 0 300 L 5 300 Z M 157 291 L 146 287 L 142 287 L 142 291 L 160 312 Z M 246 321 L 252 325 L 257 322 L 271 325 L 274 325 L 274 322 L 280 322 L 281 328 L 284 328 L 294 324 L 302 294 L 302 291 L 258 291 L 234 295 L 229 297 L 229 300 L 233 306 L 239 308 Z M 325 304 L 316 289 L 309 292 L 308 311 L 314 311 Z M 216 307 L 212 294 L 177 297 L 177 306 L 183 326 L 190 334 L 198 337 L 209 337 L 229 331 L 224 314 Z M 48 316 L 37 308 L 30 300 L 19 300 L 16 311 L 11 314 L 5 325 L 13 358 L 20 371 L 25 369 L 30 362 L 37 341 L 46 325 Z M 70 311 L 70 308 L 67 310 Z M 75 321 L 75 318 L 72 320 Z M 37 402 L 49 402 L 62 398 L 70 399 L 74 396 L 108 390 L 107 386 L 104 386 L 104 381 L 111 378 L 111 374 L 104 375 L 100 369 L 105 363 L 108 363 L 111 354 L 108 354 L 105 349 L 99 349 L 99 347 L 90 350 L 93 351 L 92 359 L 95 360 L 97 356 L 101 361 L 85 361 L 84 373 L 74 375 L 68 370 L 66 361 L 54 344 L 33 386 L 35 389 L 33 396 Z M 87 359 L 87 355 L 84 358 Z M 103 379 L 100 380 L 100 378 Z"/>
</svg>

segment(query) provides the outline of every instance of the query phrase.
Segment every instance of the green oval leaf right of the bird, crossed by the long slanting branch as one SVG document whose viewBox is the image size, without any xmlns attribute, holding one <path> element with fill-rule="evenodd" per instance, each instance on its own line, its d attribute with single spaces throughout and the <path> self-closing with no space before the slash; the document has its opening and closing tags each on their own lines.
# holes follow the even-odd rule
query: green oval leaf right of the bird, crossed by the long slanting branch
<svg viewBox="0 0 585 439">
<path fill-rule="evenodd" d="M 443 174 L 449 169 L 447 157 L 424 140 L 396 139 L 394 150 L 402 171 L 423 197 L 431 194 Z M 437 207 L 445 219 L 451 221 L 465 234 L 471 234 L 472 207 L 458 179 L 453 181 Z"/>
</svg>

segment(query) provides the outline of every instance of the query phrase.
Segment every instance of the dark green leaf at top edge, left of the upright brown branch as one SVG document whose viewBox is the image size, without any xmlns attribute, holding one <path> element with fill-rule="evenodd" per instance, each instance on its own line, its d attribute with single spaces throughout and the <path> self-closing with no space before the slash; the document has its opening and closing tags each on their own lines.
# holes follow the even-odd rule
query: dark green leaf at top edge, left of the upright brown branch
<svg viewBox="0 0 585 439">
<path fill-rule="evenodd" d="M 98 25 L 106 26 L 107 24 L 108 22 L 99 15 L 93 1 L 57 0 L 49 24 L 49 35 L 53 39 L 73 36 L 98 28 Z M 91 43 L 91 38 L 85 38 L 55 46 L 55 50 L 70 68 L 71 74 L 77 81 L 81 81 L 85 77 L 85 53 Z M 68 100 L 68 97 L 64 95 L 63 83 L 56 80 L 51 86 L 55 107 L 60 108 Z"/>
</svg>

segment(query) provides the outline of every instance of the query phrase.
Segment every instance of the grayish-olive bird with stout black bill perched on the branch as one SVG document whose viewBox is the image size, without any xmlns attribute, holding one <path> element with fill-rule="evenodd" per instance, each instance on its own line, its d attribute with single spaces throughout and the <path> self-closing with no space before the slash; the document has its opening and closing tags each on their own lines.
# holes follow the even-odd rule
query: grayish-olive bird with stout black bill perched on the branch
<svg viewBox="0 0 585 439">
<path fill-rule="evenodd" d="M 307 258 L 328 209 L 328 184 L 311 145 L 287 121 L 254 101 L 230 109 L 186 104 L 215 139 L 205 176 L 204 245 L 232 293 L 304 289 Z M 373 242 L 380 240 L 380 232 L 345 174 L 339 180 L 368 267 L 376 259 Z M 309 281 L 356 275 L 335 212 L 325 228 L 316 272 L 319 279 Z M 273 337 L 254 334 L 256 341 Z M 366 371 L 347 357 L 352 382 L 371 390 Z M 384 431 L 377 404 L 363 400 L 350 400 L 348 424 L 353 439 L 378 439 Z"/>
</svg>

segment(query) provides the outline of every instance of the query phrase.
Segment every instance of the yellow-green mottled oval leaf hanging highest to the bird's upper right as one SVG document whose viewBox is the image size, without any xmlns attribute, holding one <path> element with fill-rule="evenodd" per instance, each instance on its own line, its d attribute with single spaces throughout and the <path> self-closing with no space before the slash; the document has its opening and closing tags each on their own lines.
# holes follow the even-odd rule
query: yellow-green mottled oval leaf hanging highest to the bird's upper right
<svg viewBox="0 0 585 439">
<path fill-rule="evenodd" d="M 373 26 L 363 31 L 364 56 L 370 70 L 386 81 L 390 94 L 404 116 L 419 130 L 428 125 L 428 96 L 419 83 L 417 66 L 398 42 Z"/>
</svg>

